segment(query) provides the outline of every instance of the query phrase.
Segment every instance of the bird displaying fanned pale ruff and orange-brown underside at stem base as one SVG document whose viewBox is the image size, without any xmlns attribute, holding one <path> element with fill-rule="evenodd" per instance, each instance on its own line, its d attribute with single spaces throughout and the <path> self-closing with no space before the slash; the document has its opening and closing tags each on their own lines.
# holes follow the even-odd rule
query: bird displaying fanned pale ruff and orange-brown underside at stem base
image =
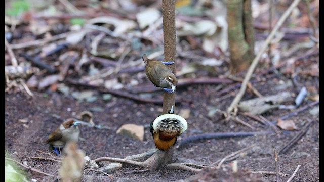
<svg viewBox="0 0 324 182">
<path fill-rule="evenodd" d="M 150 131 L 155 147 L 161 151 L 168 150 L 176 144 L 178 136 L 187 127 L 187 121 L 183 117 L 174 114 L 172 106 L 168 114 L 160 115 L 150 123 Z"/>
</svg>

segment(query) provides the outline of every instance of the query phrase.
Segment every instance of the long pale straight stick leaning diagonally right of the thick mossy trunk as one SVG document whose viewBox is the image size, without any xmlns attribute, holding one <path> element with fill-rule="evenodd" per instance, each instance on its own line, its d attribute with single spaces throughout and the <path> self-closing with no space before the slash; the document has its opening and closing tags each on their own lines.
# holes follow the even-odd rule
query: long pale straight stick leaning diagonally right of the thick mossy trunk
<svg viewBox="0 0 324 182">
<path fill-rule="evenodd" d="M 278 31 L 278 29 L 281 27 L 281 25 L 284 23 L 284 21 L 288 18 L 288 16 L 290 15 L 290 13 L 293 11 L 293 9 L 298 5 L 298 3 L 300 2 L 300 0 L 294 0 L 294 2 L 290 5 L 290 7 L 286 10 L 286 12 L 284 14 L 282 14 L 282 16 L 280 17 L 280 19 L 278 20 L 278 22 L 276 23 L 275 27 L 272 29 L 270 35 L 267 37 L 267 39 L 265 40 L 262 48 L 260 49 L 258 55 L 254 58 L 254 60 L 252 61 L 251 66 L 249 67 L 249 70 L 246 74 L 246 77 L 244 78 L 241 88 L 239 89 L 239 92 L 237 93 L 236 97 L 234 98 L 234 100 L 232 101 L 232 103 L 230 104 L 230 106 L 227 109 L 227 118 L 229 119 L 231 117 L 231 113 L 233 111 L 233 109 L 236 107 L 236 105 L 238 104 L 238 102 L 242 99 L 243 95 L 245 94 L 245 91 L 247 89 L 247 84 L 252 76 L 252 73 L 254 72 L 260 58 L 261 55 L 264 53 L 264 51 L 267 49 L 268 44 L 270 43 L 270 41 L 272 40 L 272 38 L 274 37 L 275 33 Z"/>
</svg>

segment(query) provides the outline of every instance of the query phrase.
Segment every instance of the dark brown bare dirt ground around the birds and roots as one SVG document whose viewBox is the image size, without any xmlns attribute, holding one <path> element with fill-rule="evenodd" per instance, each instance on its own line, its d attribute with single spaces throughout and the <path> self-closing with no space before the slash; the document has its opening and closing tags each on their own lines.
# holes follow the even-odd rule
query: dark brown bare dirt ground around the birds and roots
<svg viewBox="0 0 324 182">
<path fill-rule="evenodd" d="M 263 95 L 275 94 L 274 88 L 278 84 L 278 79 L 284 79 L 280 75 L 275 76 L 265 82 L 258 82 L 255 88 Z M 318 88 L 318 81 L 308 77 L 302 79 L 305 85 Z M 265 87 L 265 85 L 267 85 Z M 224 85 L 226 87 L 226 85 Z M 221 114 L 215 114 L 214 117 L 207 117 L 208 107 L 217 106 L 225 109 L 231 102 L 231 99 L 224 99 L 217 102 L 217 85 L 191 85 L 186 88 L 178 88 L 176 97 L 181 102 L 176 104 L 175 112 L 181 109 L 189 109 L 190 116 L 187 119 L 188 129 L 178 139 L 178 145 L 188 136 L 211 133 L 211 132 L 238 132 L 252 131 L 251 128 L 237 123 L 235 121 L 219 122 Z M 71 89 L 81 90 L 82 87 L 71 87 Z M 288 88 L 291 93 L 296 93 L 296 88 Z M 236 92 L 236 91 L 235 91 Z M 33 159 L 32 157 L 45 157 L 59 159 L 54 153 L 48 150 L 48 145 L 44 143 L 48 135 L 57 128 L 62 122 L 62 118 L 71 117 L 85 110 L 92 110 L 94 113 L 94 122 L 103 124 L 110 129 L 96 129 L 87 126 L 81 126 L 82 140 L 78 142 L 79 148 L 85 151 L 91 159 L 109 156 L 125 158 L 126 156 L 145 152 L 154 148 L 154 143 L 149 132 L 145 129 L 145 138 L 141 142 L 130 136 L 116 134 L 116 130 L 122 124 L 134 123 L 138 125 L 147 125 L 157 117 L 161 112 L 161 105 L 152 103 L 139 103 L 137 101 L 116 97 L 110 101 L 102 99 L 102 93 L 96 93 L 98 100 L 92 103 L 78 102 L 71 96 L 64 96 L 60 93 L 33 92 L 34 98 L 30 98 L 24 92 L 16 94 L 6 94 L 5 111 L 5 129 L 6 129 L 6 151 L 20 162 L 26 162 L 30 167 L 43 172 L 58 175 L 59 163 L 50 160 Z M 231 94 L 231 98 L 234 93 Z M 251 90 L 247 91 L 245 98 L 253 97 Z M 312 101 L 304 101 L 305 106 Z M 60 103 L 60 104 L 58 104 Z M 293 105 L 293 100 L 291 103 Z M 317 105 L 318 106 L 318 105 Z M 95 112 L 96 108 L 103 108 L 102 111 Z M 278 119 L 281 116 L 291 113 L 289 110 L 272 110 L 263 116 L 269 121 Z M 250 125 L 254 126 L 255 131 L 271 130 L 268 126 L 240 116 Z M 240 149 L 255 144 L 251 149 L 245 150 L 235 158 L 226 160 L 224 165 L 230 164 L 232 160 L 237 161 L 239 170 L 247 171 L 275 171 L 274 149 L 279 150 L 284 147 L 305 125 L 315 118 L 314 124 L 308 129 L 301 140 L 293 145 L 285 154 L 278 155 L 279 181 L 286 181 L 293 174 L 298 165 L 301 165 L 293 181 L 319 181 L 319 124 L 318 115 L 313 116 L 309 109 L 292 116 L 298 129 L 294 131 L 284 131 L 278 129 L 278 133 L 269 135 L 256 135 L 241 138 L 222 138 L 208 139 L 191 142 L 181 148 L 177 148 L 174 153 L 174 159 L 188 159 L 190 162 L 216 166 L 218 160 L 232 154 Z M 21 121 L 25 119 L 25 123 Z M 178 146 L 176 145 L 176 147 Z M 215 163 L 217 162 L 217 163 Z M 125 174 L 132 170 L 140 170 L 139 167 L 124 165 L 121 169 L 111 172 L 111 176 L 106 176 L 98 171 L 85 170 L 83 181 L 175 181 L 189 178 L 194 173 L 182 170 L 160 169 L 152 172 L 136 172 Z M 221 168 L 222 169 L 222 168 Z M 204 171 L 200 175 L 199 181 L 227 181 L 232 174 L 230 170 L 216 169 Z M 209 175 L 206 176 L 206 173 Z M 214 174 L 213 174 L 214 173 Z M 53 181 L 55 177 L 28 171 L 31 178 L 37 181 Z M 213 174 L 213 175 L 212 175 Z M 245 173 L 247 174 L 247 173 Z M 252 175 L 252 174 L 251 174 Z M 224 177 L 223 180 L 221 177 Z M 227 176 L 227 177 L 226 177 Z M 259 174 L 263 181 L 275 181 L 276 175 Z M 194 181 L 194 180 L 193 180 Z M 197 180 L 196 180 L 197 181 Z M 248 181 L 242 178 L 241 181 Z"/>
</svg>

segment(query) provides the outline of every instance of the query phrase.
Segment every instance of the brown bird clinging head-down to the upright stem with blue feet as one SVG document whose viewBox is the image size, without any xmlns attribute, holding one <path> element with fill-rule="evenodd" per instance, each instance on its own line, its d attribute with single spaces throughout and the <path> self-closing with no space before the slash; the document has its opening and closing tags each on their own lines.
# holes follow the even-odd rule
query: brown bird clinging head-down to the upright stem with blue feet
<svg viewBox="0 0 324 182">
<path fill-rule="evenodd" d="M 174 93 L 178 80 L 167 66 L 173 64 L 174 61 L 161 62 L 157 60 L 150 60 L 146 54 L 142 57 L 145 63 L 145 73 L 148 79 L 156 87 L 161 87 L 168 93 Z"/>
</svg>

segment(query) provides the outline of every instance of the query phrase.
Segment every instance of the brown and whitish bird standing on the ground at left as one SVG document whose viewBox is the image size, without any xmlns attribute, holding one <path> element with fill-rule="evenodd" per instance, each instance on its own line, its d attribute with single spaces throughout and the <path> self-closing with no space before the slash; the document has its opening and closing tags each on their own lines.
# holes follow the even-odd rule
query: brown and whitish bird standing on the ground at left
<svg viewBox="0 0 324 182">
<path fill-rule="evenodd" d="M 65 144 L 69 141 L 77 142 L 80 135 L 80 129 L 77 125 L 80 123 L 75 118 L 66 119 L 59 128 L 53 131 L 46 143 L 50 144 L 53 151 L 59 155 Z"/>
</svg>

